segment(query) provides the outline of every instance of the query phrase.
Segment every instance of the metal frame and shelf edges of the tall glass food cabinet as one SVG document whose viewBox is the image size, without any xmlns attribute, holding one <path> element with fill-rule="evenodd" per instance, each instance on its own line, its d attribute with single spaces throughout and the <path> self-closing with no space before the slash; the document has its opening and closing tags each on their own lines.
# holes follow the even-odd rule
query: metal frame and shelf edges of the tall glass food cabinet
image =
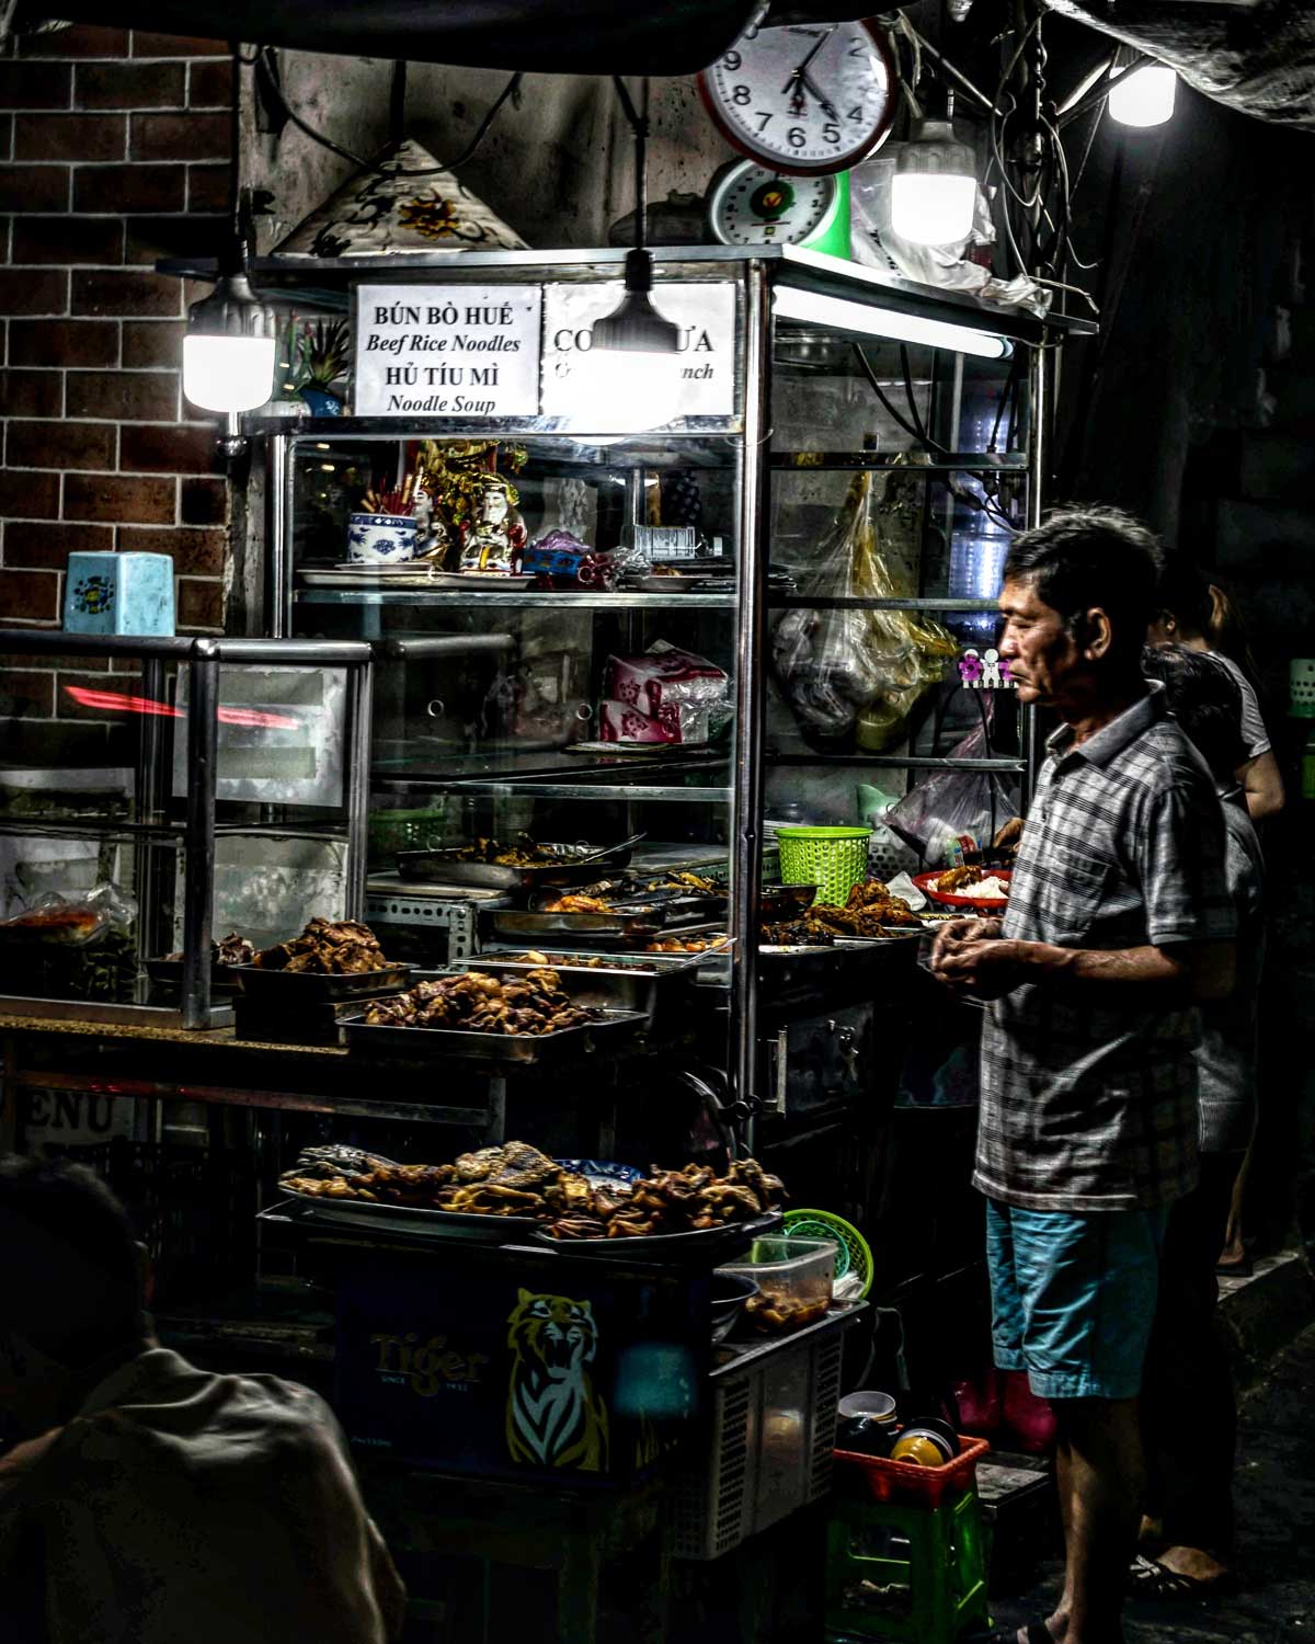
<svg viewBox="0 0 1315 1644">
<path fill-rule="evenodd" d="M 321 299 L 339 309 L 350 309 L 353 288 L 360 283 L 388 279 L 390 283 L 495 283 L 495 281 L 588 281 L 620 278 L 625 252 L 511 252 L 464 253 L 459 258 L 414 255 L 376 260 L 344 258 L 317 260 L 311 265 L 299 260 L 263 258 L 253 266 L 258 288 L 275 293 L 296 288 L 302 299 Z M 291 564 L 293 449 L 299 441 L 332 444 L 348 439 L 401 441 L 414 437 L 470 437 L 470 439 L 521 439 L 544 446 L 546 462 L 561 462 L 552 449 L 554 441 L 575 441 L 580 447 L 590 444 L 588 429 L 569 429 L 561 423 L 547 424 L 539 418 L 418 418 L 406 419 L 298 419 L 291 424 L 251 423 L 251 431 L 265 439 L 266 505 L 268 505 L 268 570 L 270 570 L 270 621 L 275 633 L 291 630 L 298 615 L 302 618 L 322 607 L 418 607 L 452 610 L 460 607 L 529 607 L 559 605 L 577 610 L 658 608 L 733 610 L 738 615 L 735 630 L 735 692 L 736 715 L 733 727 L 731 768 L 728 779 L 713 787 L 687 787 L 667 783 L 644 781 L 639 769 L 616 781 L 564 781 L 561 773 L 544 776 L 432 776 L 406 778 L 385 774 L 376 768 L 378 786 L 390 791 L 447 789 L 454 792 L 487 794 L 536 794 L 542 797 L 598 797 L 656 804 L 725 804 L 731 806 L 731 883 L 728 927 L 735 939 L 731 954 L 730 1009 L 730 1085 L 735 1095 L 750 1095 L 758 1083 L 758 907 L 763 876 L 763 792 L 769 764 L 799 768 L 832 763 L 855 768 L 901 769 L 965 769 L 1021 773 L 1026 797 L 1039 756 L 1036 715 L 1021 710 L 1022 758 L 963 760 L 932 756 L 855 755 L 814 756 L 805 753 L 774 753 L 766 746 L 766 690 L 769 671 L 768 620 L 773 610 L 927 610 L 940 613 L 988 613 L 993 602 L 970 598 L 807 598 L 802 595 L 773 595 L 769 592 L 769 500 L 773 478 L 777 475 L 807 475 L 815 470 L 886 472 L 902 475 L 925 473 L 981 473 L 1009 477 L 1011 483 L 1026 483 L 1026 523 L 1040 518 L 1042 475 L 1045 465 L 1044 424 L 1049 414 L 1049 381 L 1059 339 L 1065 334 L 1093 334 L 1095 327 L 1082 319 L 1055 316 L 1036 317 L 1017 309 L 1006 309 L 962 293 L 937 291 L 917 286 L 878 270 L 860 268 L 837 258 L 794 247 L 769 247 L 746 253 L 728 247 L 677 247 L 654 250 L 656 299 L 661 304 L 661 288 L 666 279 L 708 281 L 735 279 L 738 286 L 738 370 L 733 414 L 720 423 L 702 421 L 662 429 L 659 434 L 638 436 L 620 447 L 598 450 L 593 460 L 598 467 L 661 469 L 690 460 L 700 449 L 700 441 L 725 439 L 735 446 L 733 470 L 736 478 L 736 529 L 733 595 L 546 595 L 513 592 L 434 592 L 416 589 L 307 589 L 294 585 Z M 174 271 L 202 273 L 199 266 L 179 265 Z M 1013 350 L 1027 350 L 1026 385 L 1029 404 L 1029 434 L 1026 450 L 1008 452 L 950 452 L 930 462 L 909 460 L 907 454 L 855 452 L 855 450 L 773 450 L 773 380 L 774 380 L 774 293 L 791 288 L 792 293 L 814 293 L 822 298 L 840 298 L 843 304 L 830 304 L 835 314 L 843 307 L 843 327 L 835 322 L 817 322 L 820 334 L 837 334 L 853 340 L 860 335 L 897 335 L 897 317 L 925 317 L 988 332 Z M 791 298 L 794 311 L 789 326 L 799 329 L 797 296 Z M 812 324 L 812 322 L 802 322 Z M 883 324 L 888 327 L 883 332 Z M 942 355 L 953 358 L 953 349 Z M 782 372 L 789 367 L 782 365 Z M 584 459 L 582 459 L 584 462 Z M 570 464 L 565 464 L 570 467 Z M 636 515 L 638 518 L 638 515 Z M 620 774 L 620 773 L 618 773 Z"/>
</svg>

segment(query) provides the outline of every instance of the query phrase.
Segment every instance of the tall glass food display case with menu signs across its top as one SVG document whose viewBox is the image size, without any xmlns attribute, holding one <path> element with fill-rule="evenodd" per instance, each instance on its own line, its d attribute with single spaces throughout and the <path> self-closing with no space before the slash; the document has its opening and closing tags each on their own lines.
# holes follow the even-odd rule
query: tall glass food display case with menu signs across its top
<svg viewBox="0 0 1315 1644">
<path fill-rule="evenodd" d="M 396 929 L 391 949 L 409 932 L 431 962 L 490 945 L 615 952 L 611 932 L 524 917 L 556 901 L 524 886 L 464 873 L 454 894 L 450 853 L 488 855 L 487 840 L 621 847 L 628 866 L 602 858 L 597 876 L 625 866 L 633 903 L 677 875 L 712 881 L 725 906 L 712 893 L 667 940 L 712 944 L 704 1051 L 725 1095 L 773 1101 L 773 819 L 853 822 L 856 784 L 899 797 L 955 768 L 1014 792 L 1031 779 L 1034 728 L 991 649 L 991 610 L 1009 534 L 1039 515 L 1055 330 L 789 247 L 658 250 L 654 302 L 682 337 L 677 414 L 618 434 L 590 399 L 582 339 L 616 302 L 621 258 L 316 263 L 317 299 L 353 317 L 357 401 L 342 418 L 251 421 L 270 626 L 375 648 L 367 911 Z M 276 258 L 256 276 L 307 283 Z M 398 360 L 455 337 L 503 296 L 508 312 L 538 302 L 538 386 L 511 414 L 496 395 L 455 414 L 434 391 L 445 367 L 399 388 L 411 380 L 385 376 L 403 367 L 370 358 L 394 334 Z M 631 413 L 646 421 L 643 403 Z M 447 498 L 449 529 L 421 518 L 403 529 L 419 557 L 383 562 L 367 506 L 391 495 L 414 520 L 426 490 Z M 598 896 L 615 903 L 615 884 Z M 631 949 L 653 947 L 643 934 Z M 804 995 L 820 1008 L 828 986 Z"/>
</svg>

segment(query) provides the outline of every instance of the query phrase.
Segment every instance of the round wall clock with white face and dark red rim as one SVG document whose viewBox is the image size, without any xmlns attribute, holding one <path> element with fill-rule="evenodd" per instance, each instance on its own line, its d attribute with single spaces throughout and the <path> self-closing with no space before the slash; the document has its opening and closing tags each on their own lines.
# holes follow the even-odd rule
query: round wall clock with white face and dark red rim
<svg viewBox="0 0 1315 1644">
<path fill-rule="evenodd" d="M 855 164 L 894 113 L 889 48 L 863 21 L 751 28 L 699 87 L 736 148 L 794 176 Z"/>
</svg>

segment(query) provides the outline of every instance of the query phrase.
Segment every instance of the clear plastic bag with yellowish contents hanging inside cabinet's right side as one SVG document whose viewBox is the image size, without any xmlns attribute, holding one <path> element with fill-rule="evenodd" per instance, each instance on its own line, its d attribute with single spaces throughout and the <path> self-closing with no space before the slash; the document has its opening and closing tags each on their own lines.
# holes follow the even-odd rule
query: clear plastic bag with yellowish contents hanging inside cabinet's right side
<svg viewBox="0 0 1315 1644">
<path fill-rule="evenodd" d="M 873 477 L 850 482 L 835 529 L 801 592 L 894 598 L 902 592 L 878 552 Z M 825 741 L 856 741 L 873 753 L 904 730 L 922 692 L 937 684 L 958 644 L 916 612 L 792 610 L 773 635 L 773 666 L 801 728 Z"/>
</svg>

